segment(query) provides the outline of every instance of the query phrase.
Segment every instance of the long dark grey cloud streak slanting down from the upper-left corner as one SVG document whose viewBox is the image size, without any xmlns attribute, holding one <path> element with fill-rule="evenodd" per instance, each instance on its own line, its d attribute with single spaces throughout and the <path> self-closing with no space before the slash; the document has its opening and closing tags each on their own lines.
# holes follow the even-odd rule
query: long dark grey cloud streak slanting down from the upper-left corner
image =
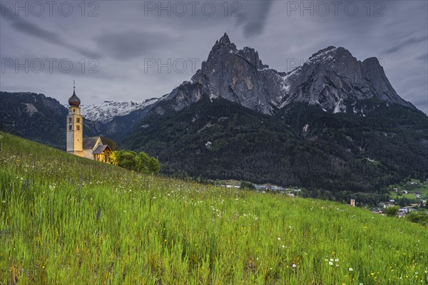
<svg viewBox="0 0 428 285">
<path fill-rule="evenodd" d="M 100 57 L 99 53 L 88 51 L 86 48 L 81 48 L 79 46 L 74 46 L 73 44 L 67 43 L 66 41 L 63 41 L 63 39 L 61 38 L 61 36 L 58 35 L 58 33 L 48 31 L 34 23 L 22 19 L 22 17 L 20 16 L 14 15 L 9 10 L 4 10 L 2 4 L 0 4 L 0 14 L 1 16 L 4 16 L 4 18 L 11 21 L 11 26 L 15 28 L 16 31 L 20 31 L 21 33 L 25 33 L 29 36 L 42 39 L 48 43 L 71 49 L 72 51 L 76 51 L 77 53 L 80 53 L 82 56 L 86 56 L 87 58 Z"/>
</svg>

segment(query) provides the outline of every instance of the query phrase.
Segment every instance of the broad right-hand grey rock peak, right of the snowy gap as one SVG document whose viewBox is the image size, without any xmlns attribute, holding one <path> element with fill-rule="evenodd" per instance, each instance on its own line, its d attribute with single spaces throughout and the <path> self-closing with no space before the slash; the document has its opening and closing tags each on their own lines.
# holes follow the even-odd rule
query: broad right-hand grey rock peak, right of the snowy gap
<svg viewBox="0 0 428 285">
<path fill-rule="evenodd" d="M 285 100 L 319 104 L 324 110 L 345 112 L 345 100 L 376 98 L 412 107 L 397 95 L 377 58 L 357 61 L 345 48 L 330 46 L 313 54 L 303 66 L 287 73 Z"/>
</svg>

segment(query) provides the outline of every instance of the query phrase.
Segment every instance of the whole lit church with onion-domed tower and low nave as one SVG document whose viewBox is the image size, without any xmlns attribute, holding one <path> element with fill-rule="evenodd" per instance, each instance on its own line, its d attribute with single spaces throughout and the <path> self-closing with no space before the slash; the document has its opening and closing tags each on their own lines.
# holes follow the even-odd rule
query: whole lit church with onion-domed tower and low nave
<svg viewBox="0 0 428 285">
<path fill-rule="evenodd" d="M 110 163 L 112 150 L 105 138 L 99 135 L 98 137 L 83 138 L 83 117 L 80 104 L 81 100 L 76 95 L 76 86 L 73 85 L 73 95 L 68 99 L 67 152 L 90 160 Z"/>
</svg>

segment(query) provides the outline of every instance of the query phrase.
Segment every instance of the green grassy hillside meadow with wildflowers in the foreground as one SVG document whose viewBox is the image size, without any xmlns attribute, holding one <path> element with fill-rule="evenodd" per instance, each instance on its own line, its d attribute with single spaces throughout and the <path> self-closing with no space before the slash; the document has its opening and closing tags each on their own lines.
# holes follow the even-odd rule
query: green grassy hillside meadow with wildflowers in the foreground
<svg viewBox="0 0 428 285">
<path fill-rule="evenodd" d="M 418 224 L 0 135 L 0 284 L 428 284 Z"/>
</svg>

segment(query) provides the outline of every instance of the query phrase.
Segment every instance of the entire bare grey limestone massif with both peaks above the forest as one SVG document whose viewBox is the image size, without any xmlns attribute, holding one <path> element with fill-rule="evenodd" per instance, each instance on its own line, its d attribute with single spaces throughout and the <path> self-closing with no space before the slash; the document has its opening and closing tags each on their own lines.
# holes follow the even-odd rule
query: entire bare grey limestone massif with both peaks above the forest
<svg viewBox="0 0 428 285">
<path fill-rule="evenodd" d="M 332 113 L 347 112 L 355 101 L 368 98 L 414 108 L 392 88 L 377 58 L 361 62 L 346 48 L 330 46 L 290 73 L 283 73 L 263 64 L 253 48 L 238 50 L 227 34 L 215 42 L 191 81 L 165 99 L 181 110 L 203 95 L 270 115 L 295 102 L 320 105 Z"/>
</svg>

